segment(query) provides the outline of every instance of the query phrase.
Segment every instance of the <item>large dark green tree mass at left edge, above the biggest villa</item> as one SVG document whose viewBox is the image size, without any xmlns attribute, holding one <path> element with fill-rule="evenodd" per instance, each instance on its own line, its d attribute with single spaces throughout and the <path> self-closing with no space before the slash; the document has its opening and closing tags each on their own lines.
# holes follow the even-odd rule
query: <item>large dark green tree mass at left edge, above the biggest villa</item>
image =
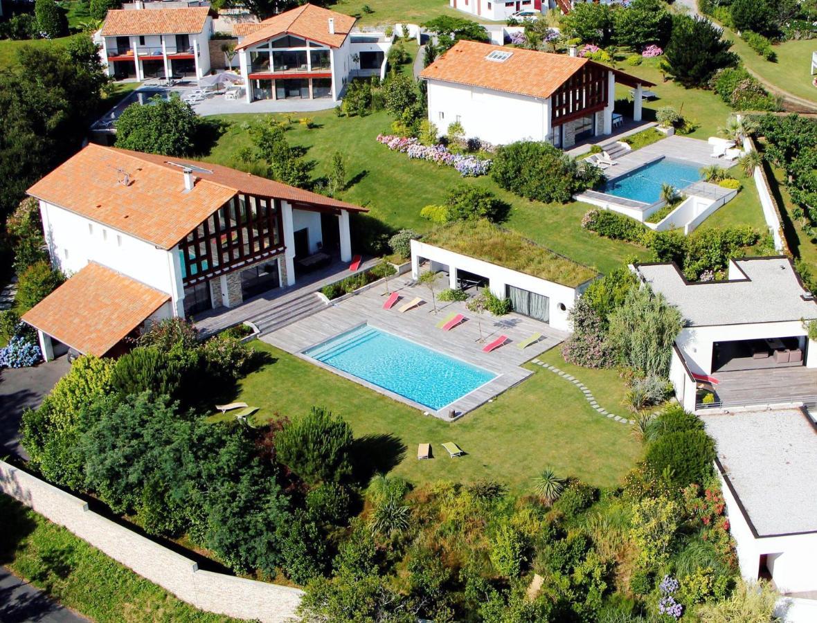
<svg viewBox="0 0 817 623">
<path fill-rule="evenodd" d="M 22 47 L 17 65 L 0 71 L 0 219 L 79 149 L 108 79 L 86 36 L 66 47 Z"/>
</svg>

